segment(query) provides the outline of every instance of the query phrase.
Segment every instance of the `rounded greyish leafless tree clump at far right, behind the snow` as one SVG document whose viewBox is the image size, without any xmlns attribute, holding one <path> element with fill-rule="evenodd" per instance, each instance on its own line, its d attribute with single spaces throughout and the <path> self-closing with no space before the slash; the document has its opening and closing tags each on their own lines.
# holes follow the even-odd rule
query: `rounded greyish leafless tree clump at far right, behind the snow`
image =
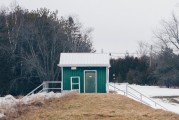
<svg viewBox="0 0 179 120">
<path fill-rule="evenodd" d="M 179 87 L 179 55 L 170 48 L 165 48 L 158 55 L 157 67 L 153 71 L 153 79 L 166 87 Z"/>
</svg>

